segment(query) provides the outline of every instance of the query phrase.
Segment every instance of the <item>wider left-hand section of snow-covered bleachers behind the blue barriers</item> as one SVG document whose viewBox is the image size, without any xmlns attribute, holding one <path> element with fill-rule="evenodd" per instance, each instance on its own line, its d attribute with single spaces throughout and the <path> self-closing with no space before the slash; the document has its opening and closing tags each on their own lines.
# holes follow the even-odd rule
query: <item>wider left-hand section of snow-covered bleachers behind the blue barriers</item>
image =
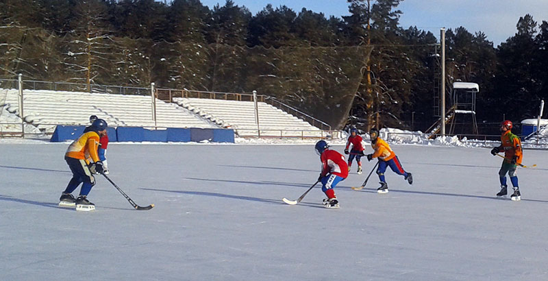
<svg viewBox="0 0 548 281">
<path fill-rule="evenodd" d="M 53 132 L 55 126 L 86 125 L 90 115 L 105 119 L 110 126 L 139 127 L 219 127 L 175 103 L 156 99 L 156 121 L 153 121 L 152 101 L 149 96 L 112 95 L 101 93 L 63 92 L 52 90 L 25 90 L 24 119 L 42 132 Z M 0 106 L 17 113 L 18 92 L 0 89 Z"/>
</svg>

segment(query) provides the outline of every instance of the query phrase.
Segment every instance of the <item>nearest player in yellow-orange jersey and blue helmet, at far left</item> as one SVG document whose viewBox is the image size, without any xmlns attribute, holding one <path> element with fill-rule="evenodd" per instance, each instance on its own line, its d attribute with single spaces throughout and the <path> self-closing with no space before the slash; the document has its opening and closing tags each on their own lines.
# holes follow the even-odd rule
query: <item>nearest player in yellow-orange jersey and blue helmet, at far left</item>
<svg viewBox="0 0 548 281">
<path fill-rule="evenodd" d="M 88 201 L 87 196 L 95 185 L 94 173 L 103 173 L 103 163 L 99 160 L 97 147 L 99 138 L 107 133 L 107 123 L 103 119 L 93 121 L 88 132 L 66 149 L 64 160 L 69 164 L 73 172 L 73 178 L 63 191 L 59 206 L 76 206 L 76 210 L 95 210 L 95 204 Z M 90 160 L 87 160 L 90 159 Z M 81 184 L 78 198 L 72 195 L 73 191 Z"/>
</svg>

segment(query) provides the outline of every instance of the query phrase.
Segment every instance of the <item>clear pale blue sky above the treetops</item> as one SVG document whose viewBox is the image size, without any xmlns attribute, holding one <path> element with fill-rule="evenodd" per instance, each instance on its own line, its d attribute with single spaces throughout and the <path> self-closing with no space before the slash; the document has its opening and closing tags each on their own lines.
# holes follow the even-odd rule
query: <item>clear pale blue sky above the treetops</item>
<svg viewBox="0 0 548 281">
<path fill-rule="evenodd" d="M 326 16 L 348 15 L 346 0 L 233 1 L 253 14 L 271 3 L 274 7 L 286 5 L 295 12 L 306 8 Z M 201 0 L 201 3 L 213 8 L 217 3 L 225 5 L 225 0 Z M 495 47 L 516 33 L 520 16 L 531 14 L 539 25 L 548 21 L 548 0 L 405 0 L 398 8 L 403 12 L 399 23 L 404 28 L 416 26 L 438 37 L 441 27 L 456 29 L 463 26 L 472 34 L 484 32 Z"/>
</svg>

